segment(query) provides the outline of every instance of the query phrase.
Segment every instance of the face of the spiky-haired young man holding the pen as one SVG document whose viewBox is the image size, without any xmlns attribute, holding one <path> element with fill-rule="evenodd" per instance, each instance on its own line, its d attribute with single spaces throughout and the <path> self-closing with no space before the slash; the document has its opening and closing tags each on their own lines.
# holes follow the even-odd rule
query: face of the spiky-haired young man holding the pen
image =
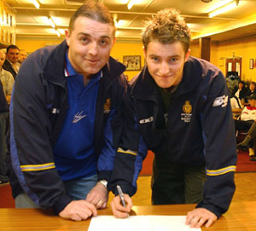
<svg viewBox="0 0 256 231">
<path fill-rule="evenodd" d="M 144 49 L 148 72 L 160 88 L 168 89 L 179 84 L 183 78 L 183 66 L 189 59 L 190 50 L 185 54 L 180 42 L 163 44 L 148 43 Z"/>
</svg>

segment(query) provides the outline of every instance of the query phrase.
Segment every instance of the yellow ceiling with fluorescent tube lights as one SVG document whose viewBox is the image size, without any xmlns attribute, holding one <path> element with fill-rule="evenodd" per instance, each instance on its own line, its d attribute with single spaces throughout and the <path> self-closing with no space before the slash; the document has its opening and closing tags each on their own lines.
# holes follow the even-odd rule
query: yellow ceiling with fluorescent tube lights
<svg viewBox="0 0 256 231">
<path fill-rule="evenodd" d="M 240 0 L 236 9 L 209 18 L 208 12 L 226 0 L 137 0 L 127 9 L 128 0 L 103 0 L 118 20 L 118 40 L 140 40 L 143 20 L 164 8 L 176 8 L 186 19 L 192 38 L 208 37 L 212 42 L 256 35 L 256 0 Z M 38 0 L 36 9 L 31 0 L 5 0 L 16 12 L 16 38 L 57 38 L 49 25 L 51 16 L 64 37 L 69 19 L 83 0 Z"/>
</svg>

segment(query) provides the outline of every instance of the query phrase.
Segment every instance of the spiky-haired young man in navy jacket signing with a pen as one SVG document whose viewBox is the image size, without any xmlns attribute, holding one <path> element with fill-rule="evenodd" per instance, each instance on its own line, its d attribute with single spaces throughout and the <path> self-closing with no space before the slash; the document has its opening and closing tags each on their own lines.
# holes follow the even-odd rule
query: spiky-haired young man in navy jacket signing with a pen
<svg viewBox="0 0 256 231">
<path fill-rule="evenodd" d="M 235 192 L 236 137 L 225 78 L 216 66 L 189 57 L 189 28 L 164 9 L 143 31 L 147 62 L 125 95 L 125 132 L 111 189 L 115 217 L 127 217 L 148 149 L 154 152 L 154 205 L 198 203 L 186 223 L 212 225 Z"/>
</svg>

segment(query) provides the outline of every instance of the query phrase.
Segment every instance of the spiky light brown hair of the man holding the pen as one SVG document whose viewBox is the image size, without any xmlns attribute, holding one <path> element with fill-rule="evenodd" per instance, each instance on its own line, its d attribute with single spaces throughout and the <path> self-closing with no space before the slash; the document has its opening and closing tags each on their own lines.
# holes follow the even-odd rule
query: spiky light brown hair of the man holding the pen
<svg viewBox="0 0 256 231">
<path fill-rule="evenodd" d="M 162 9 L 145 23 L 143 45 L 146 50 L 151 41 L 163 44 L 180 42 L 185 52 L 189 50 L 189 27 L 177 9 Z"/>
</svg>

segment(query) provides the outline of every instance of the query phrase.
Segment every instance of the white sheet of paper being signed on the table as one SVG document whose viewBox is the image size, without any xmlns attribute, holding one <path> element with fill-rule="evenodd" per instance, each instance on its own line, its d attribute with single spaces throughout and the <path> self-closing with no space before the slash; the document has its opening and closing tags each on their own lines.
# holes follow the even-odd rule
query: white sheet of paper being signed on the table
<svg viewBox="0 0 256 231">
<path fill-rule="evenodd" d="M 186 216 L 92 217 L 88 231 L 200 231 L 185 225 Z"/>
</svg>

